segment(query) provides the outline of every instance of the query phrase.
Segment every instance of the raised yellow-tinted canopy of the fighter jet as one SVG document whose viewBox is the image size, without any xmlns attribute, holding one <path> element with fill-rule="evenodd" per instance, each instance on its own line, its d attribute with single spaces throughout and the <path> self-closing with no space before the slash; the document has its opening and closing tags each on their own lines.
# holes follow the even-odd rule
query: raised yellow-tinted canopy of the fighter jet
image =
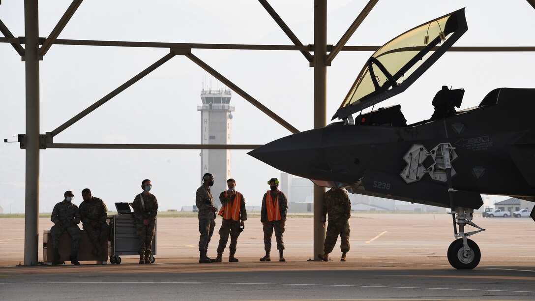
<svg viewBox="0 0 535 301">
<path fill-rule="evenodd" d="M 332 119 L 343 119 L 407 89 L 468 30 L 464 9 L 396 36 L 366 62 Z"/>
</svg>

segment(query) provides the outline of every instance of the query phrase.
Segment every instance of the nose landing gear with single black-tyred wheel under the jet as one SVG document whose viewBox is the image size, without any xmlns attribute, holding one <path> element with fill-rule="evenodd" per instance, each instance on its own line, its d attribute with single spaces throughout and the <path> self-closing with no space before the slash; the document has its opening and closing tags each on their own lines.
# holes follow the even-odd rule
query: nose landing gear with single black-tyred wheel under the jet
<svg viewBox="0 0 535 301">
<path fill-rule="evenodd" d="M 455 239 L 448 248 L 448 261 L 452 267 L 456 269 L 473 269 L 479 264 L 481 259 L 481 251 L 473 240 L 468 239 L 468 236 L 476 234 L 485 229 L 479 227 L 472 222 L 473 209 L 456 207 L 455 212 L 452 212 L 454 220 Z M 465 225 L 471 225 L 479 230 L 472 232 L 464 232 Z M 457 225 L 459 230 L 457 232 Z"/>
</svg>

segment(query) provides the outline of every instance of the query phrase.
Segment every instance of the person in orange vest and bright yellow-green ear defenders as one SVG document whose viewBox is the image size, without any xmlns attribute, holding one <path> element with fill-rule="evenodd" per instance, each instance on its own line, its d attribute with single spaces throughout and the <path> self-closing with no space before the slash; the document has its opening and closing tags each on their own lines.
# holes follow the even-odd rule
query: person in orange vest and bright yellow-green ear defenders
<svg viewBox="0 0 535 301">
<path fill-rule="evenodd" d="M 286 195 L 282 193 L 279 187 L 279 180 L 271 178 L 268 181 L 271 191 L 264 194 L 262 199 L 262 210 L 260 213 L 260 221 L 264 226 L 264 250 L 266 254 L 260 261 L 271 261 L 271 236 L 273 230 L 275 231 L 275 238 L 277 239 L 277 250 L 279 250 L 279 261 L 286 261 L 284 259 L 284 241 L 282 234 L 284 233 L 284 223 L 286 221 L 286 214 L 288 213 L 288 200 Z"/>
</svg>

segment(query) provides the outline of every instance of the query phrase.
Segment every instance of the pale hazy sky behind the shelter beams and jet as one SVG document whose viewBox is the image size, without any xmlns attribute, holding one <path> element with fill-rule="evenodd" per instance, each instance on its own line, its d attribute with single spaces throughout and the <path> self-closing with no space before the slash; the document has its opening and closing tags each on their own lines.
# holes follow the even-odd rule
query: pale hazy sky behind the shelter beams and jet
<svg viewBox="0 0 535 301">
<path fill-rule="evenodd" d="M 270 0 L 303 44 L 314 43 L 312 0 Z M 327 43 L 335 44 L 368 1 L 328 1 Z M 0 19 L 24 36 L 24 1 L 2 0 Z M 40 1 L 40 36 L 47 37 L 71 4 Z M 515 1 L 380 0 L 347 45 L 380 46 L 396 35 L 466 7 L 469 30 L 456 46 L 535 46 L 535 10 Z M 83 2 L 59 39 L 185 43 L 292 44 L 254 0 L 91 0 Z M 165 56 L 169 49 L 53 45 L 40 64 L 41 127 L 50 132 Z M 193 54 L 261 101 L 300 131 L 312 122 L 312 68 L 299 51 L 200 50 Z M 334 114 L 371 52 L 340 52 L 327 69 L 327 117 Z M 533 87 L 532 52 L 447 52 L 406 92 L 385 101 L 401 103 L 409 123 L 431 116 L 442 85 L 464 88 L 461 108 L 477 106 L 498 87 Z M 55 137 L 59 143 L 198 144 L 200 92 L 224 87 L 176 56 Z M 0 43 L 0 138 L 25 133 L 24 62 Z M 233 94 L 233 144 L 265 144 L 287 136 L 271 118 Z M 232 151 L 232 177 L 249 205 L 259 205 L 266 181 L 280 171 Z M 109 208 L 131 202 L 150 178 L 162 209 L 193 205 L 201 184 L 200 151 L 41 150 L 40 211 L 50 212 L 65 190 L 88 187 Z M 0 206 L 24 212 L 25 152 L 0 143 Z M 224 181 L 225 179 L 216 179 Z M 218 193 L 218 192 L 217 192 Z M 503 199 L 496 198 L 496 199 Z"/>
</svg>

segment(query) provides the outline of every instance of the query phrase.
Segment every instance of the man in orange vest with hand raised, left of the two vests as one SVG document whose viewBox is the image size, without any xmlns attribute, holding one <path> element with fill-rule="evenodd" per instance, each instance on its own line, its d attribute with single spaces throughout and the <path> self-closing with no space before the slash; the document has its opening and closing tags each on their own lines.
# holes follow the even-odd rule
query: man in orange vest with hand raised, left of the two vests
<svg viewBox="0 0 535 301">
<path fill-rule="evenodd" d="M 245 228 L 243 221 L 247 220 L 247 212 L 245 210 L 245 198 L 243 194 L 235 190 L 236 180 L 228 179 L 227 187 L 219 194 L 221 201 L 221 209 L 219 215 L 223 217 L 221 228 L 219 229 L 219 246 L 217 247 L 216 262 L 221 262 L 221 255 L 225 251 L 228 242 L 228 235 L 231 236 L 231 245 L 228 247 L 230 254 L 228 256 L 229 262 L 238 262 L 238 258 L 234 257 L 236 253 L 236 244 L 238 243 L 238 236 Z M 243 227 L 243 228 L 242 228 Z"/>
</svg>

